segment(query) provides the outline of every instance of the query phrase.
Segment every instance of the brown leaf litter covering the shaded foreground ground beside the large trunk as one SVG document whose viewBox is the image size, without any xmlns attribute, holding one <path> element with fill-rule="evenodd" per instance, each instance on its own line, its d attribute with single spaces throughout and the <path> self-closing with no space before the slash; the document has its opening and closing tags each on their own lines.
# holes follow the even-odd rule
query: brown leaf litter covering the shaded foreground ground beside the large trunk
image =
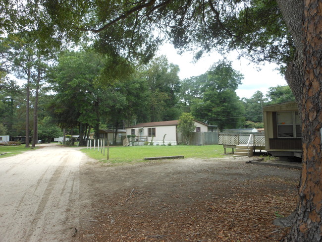
<svg viewBox="0 0 322 242">
<path fill-rule="evenodd" d="M 297 203 L 297 179 L 263 176 L 227 183 L 203 181 L 199 191 L 131 189 L 102 195 L 93 203 L 80 242 L 278 242 L 288 228 L 273 225 Z"/>
</svg>

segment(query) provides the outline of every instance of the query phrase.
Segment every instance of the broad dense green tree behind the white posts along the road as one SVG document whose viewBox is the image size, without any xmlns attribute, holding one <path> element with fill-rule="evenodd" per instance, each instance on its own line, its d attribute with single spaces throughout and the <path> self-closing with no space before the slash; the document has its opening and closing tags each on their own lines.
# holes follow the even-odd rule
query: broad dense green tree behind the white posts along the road
<svg viewBox="0 0 322 242">
<path fill-rule="evenodd" d="M 56 92 L 51 112 L 61 128 L 80 127 L 80 141 L 85 125 L 99 127 L 99 103 L 104 90 L 96 88 L 96 81 L 103 65 L 103 58 L 93 51 L 64 52 L 49 76 Z"/>
</svg>

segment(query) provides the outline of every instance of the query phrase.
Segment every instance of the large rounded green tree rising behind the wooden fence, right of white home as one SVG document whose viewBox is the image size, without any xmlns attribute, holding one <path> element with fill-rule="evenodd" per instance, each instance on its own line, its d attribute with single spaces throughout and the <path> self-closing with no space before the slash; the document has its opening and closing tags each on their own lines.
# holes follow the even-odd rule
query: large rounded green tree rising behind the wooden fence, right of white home
<svg viewBox="0 0 322 242">
<path fill-rule="evenodd" d="M 202 75 L 200 98 L 191 105 L 192 114 L 218 128 L 240 127 L 244 121 L 244 107 L 235 90 L 241 84 L 242 74 L 234 70 L 231 62 L 214 63 L 206 75 Z"/>
</svg>

